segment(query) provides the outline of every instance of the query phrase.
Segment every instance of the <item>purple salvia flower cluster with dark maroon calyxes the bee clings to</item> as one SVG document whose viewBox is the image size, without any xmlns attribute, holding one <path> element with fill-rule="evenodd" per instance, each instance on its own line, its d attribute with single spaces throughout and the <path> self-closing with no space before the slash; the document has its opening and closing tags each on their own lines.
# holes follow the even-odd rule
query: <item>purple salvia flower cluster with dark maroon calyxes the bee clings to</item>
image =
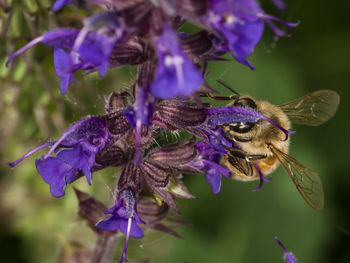
<svg viewBox="0 0 350 263">
<path fill-rule="evenodd" d="M 72 2 L 57 0 L 52 10 Z M 281 1 L 274 3 L 284 8 Z M 10 54 L 7 65 L 42 43 L 53 47 L 62 94 L 78 70 L 98 71 L 103 77 L 111 68 L 138 65 L 136 81 L 129 90 L 110 95 L 105 113 L 74 123 L 56 141 L 9 165 L 14 167 L 49 147 L 35 164 L 55 197 L 62 197 L 66 185 L 82 176 L 91 184 L 93 172 L 119 167 L 115 205 L 96 227 L 126 234 L 123 262 L 129 237 L 143 237 L 143 229 L 178 236 L 161 221 L 170 208 L 178 211 L 175 198 L 194 198 L 181 181 L 183 174 L 204 175 L 214 194 L 220 192 L 221 177 L 231 177 L 221 159 L 237 145 L 222 125 L 267 121 L 286 137 L 291 133 L 255 109 L 241 105 L 211 108 L 202 102 L 201 96 L 214 90 L 200 67 L 201 62 L 224 60 L 221 56 L 230 52 L 236 61 L 254 69 L 248 58 L 265 24 L 277 37 L 285 33 L 275 21 L 289 29 L 296 24 L 266 14 L 255 0 L 90 0 L 87 8 L 90 4 L 101 11 L 86 18 L 82 28 L 48 31 Z M 203 30 L 179 32 L 185 22 Z M 164 133 L 181 130 L 192 137 L 161 146 L 154 143 Z M 152 214 L 158 217 L 150 218 Z"/>
</svg>

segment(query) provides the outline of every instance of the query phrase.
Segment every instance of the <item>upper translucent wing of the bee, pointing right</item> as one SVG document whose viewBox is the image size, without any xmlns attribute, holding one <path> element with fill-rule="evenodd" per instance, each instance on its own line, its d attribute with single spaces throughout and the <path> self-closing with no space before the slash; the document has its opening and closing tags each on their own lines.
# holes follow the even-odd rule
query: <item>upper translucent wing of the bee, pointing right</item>
<svg viewBox="0 0 350 263">
<path fill-rule="evenodd" d="M 291 102 L 279 105 L 295 124 L 318 126 L 333 117 L 339 95 L 333 90 L 318 90 Z"/>
</svg>

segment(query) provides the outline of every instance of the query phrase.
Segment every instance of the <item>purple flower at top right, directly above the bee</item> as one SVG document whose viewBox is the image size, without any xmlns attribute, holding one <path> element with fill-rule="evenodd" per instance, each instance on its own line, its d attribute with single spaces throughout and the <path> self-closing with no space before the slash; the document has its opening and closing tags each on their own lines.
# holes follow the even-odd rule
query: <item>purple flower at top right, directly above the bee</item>
<svg viewBox="0 0 350 263">
<path fill-rule="evenodd" d="M 273 20 L 289 28 L 297 25 L 266 14 L 255 0 L 210 0 L 210 11 L 203 20 L 223 35 L 232 56 L 251 69 L 255 68 L 248 61 L 248 56 L 263 34 L 264 22 L 278 37 L 285 33 L 273 24 Z"/>
</svg>

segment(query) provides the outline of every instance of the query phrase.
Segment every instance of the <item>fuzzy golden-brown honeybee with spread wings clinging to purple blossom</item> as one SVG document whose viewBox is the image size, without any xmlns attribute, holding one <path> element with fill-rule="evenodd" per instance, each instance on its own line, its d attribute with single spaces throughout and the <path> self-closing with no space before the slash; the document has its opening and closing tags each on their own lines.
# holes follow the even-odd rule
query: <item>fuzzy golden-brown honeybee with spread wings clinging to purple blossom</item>
<svg viewBox="0 0 350 263">
<path fill-rule="evenodd" d="M 229 88 L 222 81 L 218 82 Z M 291 128 L 291 123 L 318 126 L 332 118 L 339 105 L 339 95 L 335 91 L 318 90 L 278 106 L 237 92 L 229 97 L 208 96 L 217 100 L 230 100 L 227 106 L 254 109 L 272 120 L 268 122 L 261 119 L 256 123 L 238 122 L 221 126 L 225 137 L 233 141 L 233 147 L 228 149 L 228 154 L 221 160 L 231 171 L 233 179 L 260 179 L 261 187 L 263 180 L 266 180 L 265 176 L 282 165 L 304 200 L 315 210 L 323 208 L 320 178 L 288 155 L 289 140 L 284 131 Z"/>
</svg>

